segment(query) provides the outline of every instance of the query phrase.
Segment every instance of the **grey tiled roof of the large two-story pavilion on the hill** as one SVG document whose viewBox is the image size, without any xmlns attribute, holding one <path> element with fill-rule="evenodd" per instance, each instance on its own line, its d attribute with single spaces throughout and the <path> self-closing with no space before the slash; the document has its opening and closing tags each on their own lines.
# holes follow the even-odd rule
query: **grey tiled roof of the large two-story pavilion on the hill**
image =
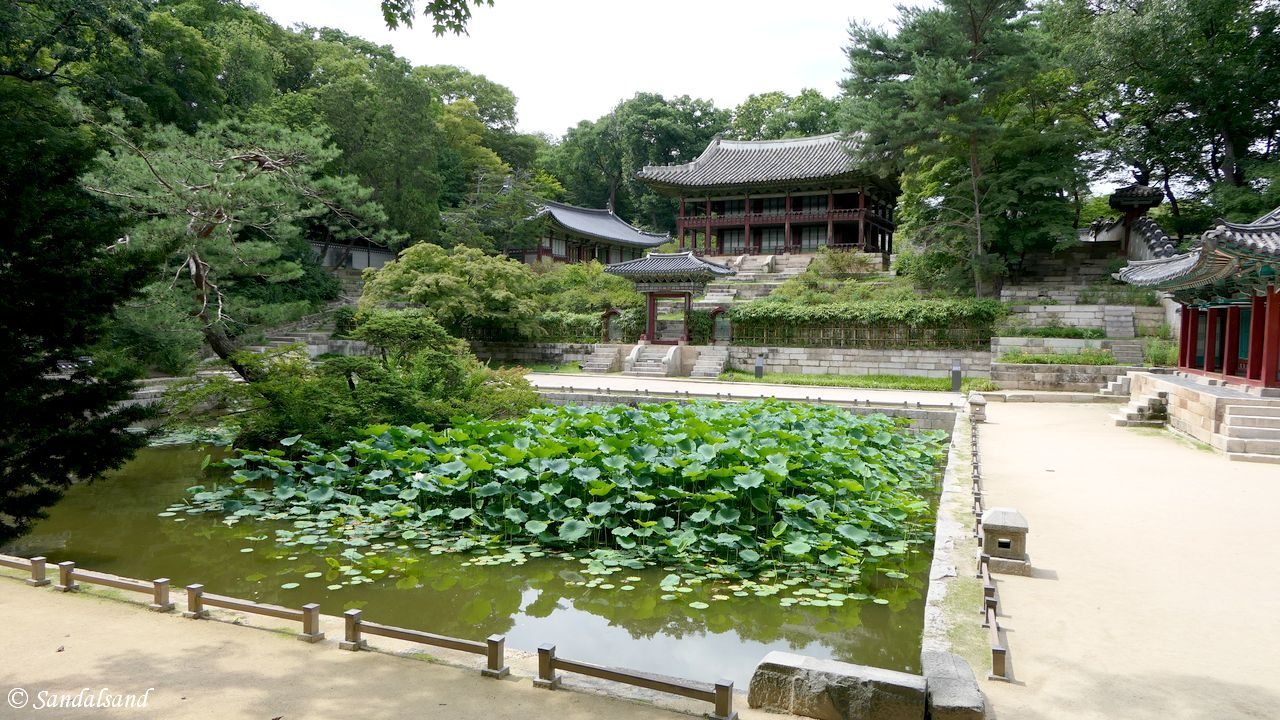
<svg viewBox="0 0 1280 720">
<path fill-rule="evenodd" d="M 648 165 L 636 177 L 690 188 L 835 178 L 855 172 L 850 147 L 840 133 L 755 141 L 717 137 L 692 163 Z"/>
</svg>

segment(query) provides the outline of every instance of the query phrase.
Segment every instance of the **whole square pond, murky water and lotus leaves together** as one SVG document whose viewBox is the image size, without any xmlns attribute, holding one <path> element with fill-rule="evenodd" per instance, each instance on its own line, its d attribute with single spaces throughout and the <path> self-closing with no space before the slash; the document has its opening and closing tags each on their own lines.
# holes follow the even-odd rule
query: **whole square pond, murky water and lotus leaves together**
<svg viewBox="0 0 1280 720">
<path fill-rule="evenodd" d="M 760 402 L 285 442 L 148 450 L 6 551 L 695 679 L 916 669 L 940 436 Z"/>
</svg>

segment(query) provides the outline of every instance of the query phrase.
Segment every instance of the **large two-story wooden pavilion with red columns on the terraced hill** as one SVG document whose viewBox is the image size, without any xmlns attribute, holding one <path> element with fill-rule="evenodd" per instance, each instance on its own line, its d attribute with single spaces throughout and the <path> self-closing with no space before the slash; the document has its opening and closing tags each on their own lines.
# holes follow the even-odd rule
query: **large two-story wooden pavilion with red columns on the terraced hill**
<svg viewBox="0 0 1280 720">
<path fill-rule="evenodd" d="M 850 140 L 716 138 L 692 163 L 636 177 L 680 197 L 676 237 L 698 255 L 893 251 L 897 186 L 854 165 Z"/>
</svg>

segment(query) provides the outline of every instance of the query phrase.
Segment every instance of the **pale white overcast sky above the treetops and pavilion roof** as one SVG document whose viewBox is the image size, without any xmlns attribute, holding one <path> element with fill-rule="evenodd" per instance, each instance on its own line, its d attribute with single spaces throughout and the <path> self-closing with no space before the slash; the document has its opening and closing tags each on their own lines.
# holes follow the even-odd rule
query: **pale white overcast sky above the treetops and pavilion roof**
<svg viewBox="0 0 1280 720">
<path fill-rule="evenodd" d="M 335 27 L 415 65 L 484 74 L 520 99 L 521 131 L 554 136 L 641 91 L 730 109 L 772 90 L 833 96 L 849 20 L 897 14 L 891 0 L 495 0 L 475 9 L 470 35 L 435 37 L 425 18 L 387 29 L 378 0 L 251 1 L 284 26 Z"/>
</svg>

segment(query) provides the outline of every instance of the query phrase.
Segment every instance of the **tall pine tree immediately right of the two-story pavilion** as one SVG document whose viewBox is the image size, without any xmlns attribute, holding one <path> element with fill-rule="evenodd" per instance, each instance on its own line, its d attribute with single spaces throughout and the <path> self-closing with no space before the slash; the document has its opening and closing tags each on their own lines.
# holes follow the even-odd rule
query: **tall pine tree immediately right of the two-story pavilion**
<svg viewBox="0 0 1280 720">
<path fill-rule="evenodd" d="M 1044 63 L 1021 0 L 902 8 L 896 33 L 850 29 L 845 127 L 858 159 L 902 176 L 901 229 L 978 296 L 1010 261 L 1071 240 L 1087 128 L 1075 78 Z"/>
</svg>

